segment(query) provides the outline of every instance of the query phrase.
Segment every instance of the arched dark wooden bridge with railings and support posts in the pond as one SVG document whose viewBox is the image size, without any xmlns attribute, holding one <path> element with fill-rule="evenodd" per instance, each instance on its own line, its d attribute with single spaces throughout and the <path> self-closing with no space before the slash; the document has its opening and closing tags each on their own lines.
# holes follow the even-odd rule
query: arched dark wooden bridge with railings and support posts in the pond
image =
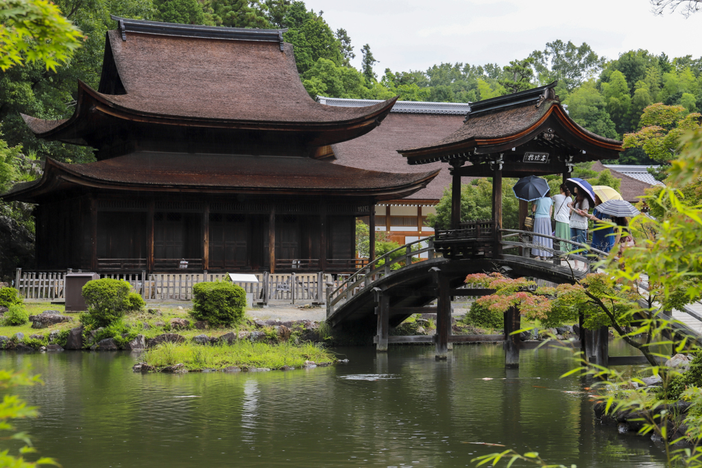
<svg viewBox="0 0 702 468">
<path fill-rule="evenodd" d="M 451 335 L 452 297 L 494 293 L 494 290 L 466 287 L 465 276 L 502 272 L 515 278 L 529 276 L 555 283 L 574 283 L 591 272 L 607 254 L 554 236 L 543 236 L 554 243 L 554 248 L 545 249 L 536 246 L 533 232 L 498 229 L 499 236 L 496 236 L 493 226 L 491 221 L 465 223 L 461 229 L 437 231 L 435 236 L 408 243 L 376 258 L 336 288 L 327 289 L 327 321 L 334 328 L 376 315 L 374 340 L 378 350 L 386 350 L 388 342 L 434 342 L 439 359 L 446 357 L 453 342 L 504 341 L 505 363 L 518 366 L 519 336 L 510 335 L 521 328 L 518 313 L 505 314 L 504 335 Z M 567 243 L 571 251 L 560 251 L 559 242 Z M 549 250 L 553 253 L 552 260 L 530 258 L 532 247 Z M 416 261 L 419 258 L 426 260 Z M 574 268 L 576 261 L 581 263 L 581 269 Z M 437 307 L 425 307 L 434 301 Z M 436 335 L 389 336 L 391 326 L 422 312 L 437 313 Z M 604 339 L 603 345 L 600 335 L 607 331 L 585 336 L 588 333 L 583 330 L 581 334 L 585 355 L 597 356 L 599 346 L 604 356 L 597 361 L 606 363 L 607 340 Z M 587 349 L 588 343 L 590 349 Z"/>
</svg>

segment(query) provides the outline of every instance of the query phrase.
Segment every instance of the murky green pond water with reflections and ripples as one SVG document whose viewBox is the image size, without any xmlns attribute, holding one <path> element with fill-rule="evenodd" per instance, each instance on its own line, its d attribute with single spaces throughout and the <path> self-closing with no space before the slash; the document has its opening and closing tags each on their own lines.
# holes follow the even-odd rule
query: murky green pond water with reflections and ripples
<svg viewBox="0 0 702 468">
<path fill-rule="evenodd" d="M 41 416 L 19 426 L 64 468 L 449 468 L 503 450 L 475 442 L 568 466 L 663 466 L 649 439 L 595 424 L 588 382 L 559 378 L 562 350 L 522 351 L 519 370 L 498 345 L 456 346 L 448 361 L 432 347 L 336 352 L 350 363 L 268 373 L 142 375 L 127 352 L 3 352 L 0 367 L 43 376 L 20 390 Z"/>
</svg>

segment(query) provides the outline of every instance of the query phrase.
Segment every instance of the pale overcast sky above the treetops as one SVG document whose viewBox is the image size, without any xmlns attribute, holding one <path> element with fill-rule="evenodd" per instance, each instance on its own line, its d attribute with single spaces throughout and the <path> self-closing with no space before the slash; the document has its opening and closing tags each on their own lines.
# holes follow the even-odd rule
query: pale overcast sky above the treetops
<svg viewBox="0 0 702 468">
<path fill-rule="evenodd" d="M 482 65 L 526 58 L 561 39 L 617 58 L 644 48 L 670 58 L 702 55 L 702 12 L 655 16 L 648 0 L 305 0 L 360 49 L 370 44 L 376 73 L 424 70 L 441 62 Z"/>
</svg>

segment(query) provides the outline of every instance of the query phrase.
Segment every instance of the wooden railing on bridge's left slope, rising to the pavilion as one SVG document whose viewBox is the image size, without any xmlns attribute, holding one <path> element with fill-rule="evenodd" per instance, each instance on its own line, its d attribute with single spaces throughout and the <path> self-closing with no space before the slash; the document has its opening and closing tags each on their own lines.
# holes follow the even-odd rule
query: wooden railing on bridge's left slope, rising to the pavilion
<svg viewBox="0 0 702 468">
<path fill-rule="evenodd" d="M 400 255 L 397 255 L 398 252 Z M 434 236 L 407 243 L 369 262 L 368 265 L 349 276 L 343 283 L 340 283 L 339 286 L 330 288 L 326 297 L 326 316 L 333 314 L 338 307 L 351 300 L 353 296 L 366 288 L 366 286 L 370 286 L 373 281 L 393 274 L 398 269 L 397 267 L 393 268 L 393 266 L 402 267 L 402 263 L 404 263 L 404 266 L 409 266 L 412 264 L 414 257 L 419 258 L 423 253 L 427 253 L 430 259 L 434 258 Z M 393 256 L 395 258 L 392 258 Z"/>
</svg>

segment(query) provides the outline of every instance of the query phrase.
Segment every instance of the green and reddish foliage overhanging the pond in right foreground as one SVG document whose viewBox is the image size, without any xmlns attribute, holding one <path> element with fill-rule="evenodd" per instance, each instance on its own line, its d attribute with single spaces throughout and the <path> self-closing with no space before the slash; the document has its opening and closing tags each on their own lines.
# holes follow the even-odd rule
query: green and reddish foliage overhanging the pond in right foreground
<svg viewBox="0 0 702 468">
<path fill-rule="evenodd" d="M 659 219 L 646 220 L 652 235 L 618 257 L 610 255 L 600 265 L 604 274 L 588 275 L 573 286 L 555 289 L 534 288 L 536 285 L 527 279 L 495 275 L 472 275 L 467 282 L 484 283 L 497 290 L 494 296 L 479 300 L 494 310 L 518 307 L 522 314 L 540 320 L 558 320 L 578 313 L 583 314 L 585 328 L 614 327 L 651 364 L 638 370 L 641 377 L 626 378 L 623 371 L 590 363 L 578 353 L 578 367 L 562 377 L 581 375 L 597 382 L 591 385 L 601 395 L 595 406 L 597 417 L 616 424 L 618 429 L 650 436 L 665 452 L 665 467 L 702 468 L 702 349 L 689 337 L 673 343 L 669 335 L 676 321 L 658 312 L 680 309 L 698 300 L 702 293 L 702 206 L 685 203 L 677 188 L 702 177 L 702 128 L 682 135 L 679 149 L 667 185 L 647 200 L 661 208 Z M 643 218 L 640 215 L 632 223 Z M 644 284 L 648 286 L 645 289 Z M 633 340 L 633 333 L 625 333 L 628 324 L 637 327 L 636 333 L 647 335 L 644 343 Z M 663 358 L 663 354 L 651 351 L 656 345 L 675 345 L 676 355 L 664 366 L 655 359 Z M 689 361 L 690 357 L 694 359 Z M 474 461 L 495 466 L 501 460 L 509 460 L 508 466 L 517 460 L 542 467 L 562 466 L 546 464 L 538 454 L 520 455 L 511 450 Z"/>
</svg>

